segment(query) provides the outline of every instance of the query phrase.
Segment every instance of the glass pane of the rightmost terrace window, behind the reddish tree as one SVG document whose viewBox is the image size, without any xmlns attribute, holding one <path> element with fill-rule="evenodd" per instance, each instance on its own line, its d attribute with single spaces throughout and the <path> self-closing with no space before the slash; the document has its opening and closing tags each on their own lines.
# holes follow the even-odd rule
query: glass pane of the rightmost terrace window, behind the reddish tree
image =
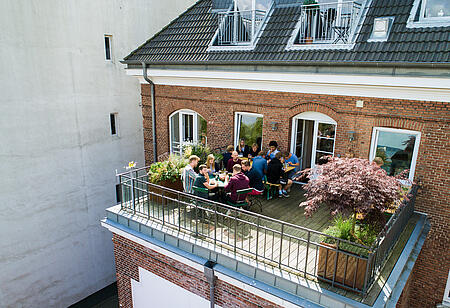
<svg viewBox="0 0 450 308">
<path fill-rule="evenodd" d="M 409 170 L 415 143 L 415 135 L 379 131 L 375 156 L 383 160 L 381 168 L 391 176 Z"/>
</svg>

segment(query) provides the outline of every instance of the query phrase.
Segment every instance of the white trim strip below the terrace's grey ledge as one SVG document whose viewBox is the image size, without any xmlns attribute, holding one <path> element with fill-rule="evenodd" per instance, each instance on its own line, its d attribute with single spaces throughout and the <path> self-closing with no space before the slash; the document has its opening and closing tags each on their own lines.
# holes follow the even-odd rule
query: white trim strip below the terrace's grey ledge
<svg viewBox="0 0 450 308">
<path fill-rule="evenodd" d="M 128 232 L 125 232 L 125 231 L 120 230 L 120 229 L 118 229 L 118 228 L 116 228 L 114 226 L 111 226 L 111 225 L 107 224 L 104 221 L 101 221 L 100 224 L 102 225 L 102 227 L 105 227 L 106 229 L 108 229 L 112 233 L 120 235 L 120 236 L 122 236 L 122 237 L 124 237 L 126 239 L 129 239 L 130 241 L 133 241 L 133 242 L 135 242 L 135 243 L 137 243 L 139 245 L 142 245 L 142 246 L 147 247 L 147 248 L 149 248 L 149 249 L 151 249 L 153 251 L 156 251 L 157 253 L 165 255 L 165 256 L 167 256 L 167 257 L 169 257 L 169 258 L 171 258 L 171 259 L 173 259 L 175 261 L 178 261 L 180 263 L 186 264 L 187 266 L 190 266 L 190 267 L 192 267 L 193 269 L 195 269 L 195 270 L 197 270 L 199 272 L 203 272 L 203 270 L 204 270 L 203 264 L 199 264 L 199 263 L 194 262 L 194 261 L 192 261 L 192 260 L 190 260 L 188 258 L 180 256 L 180 255 L 178 255 L 176 253 L 173 253 L 173 252 L 171 252 L 171 251 L 169 251 L 167 249 L 161 248 L 160 246 L 154 245 L 154 244 L 152 244 L 152 243 L 150 243 L 148 241 L 145 241 L 145 240 L 143 240 L 143 239 L 141 239 L 141 238 L 139 238 L 137 236 L 134 236 L 134 235 L 132 235 L 132 234 L 130 234 Z M 259 296 L 259 297 L 261 297 L 261 298 L 263 298 L 263 299 L 265 299 L 265 300 L 267 300 L 269 302 L 272 302 L 274 304 L 277 304 L 277 305 L 280 305 L 280 306 L 286 307 L 286 308 L 299 308 L 299 306 L 294 305 L 291 302 L 285 301 L 282 298 L 279 298 L 279 297 L 277 297 L 275 295 L 272 295 L 272 294 L 270 294 L 268 292 L 264 292 L 261 289 L 255 288 L 255 287 L 253 287 L 253 286 L 251 286 L 251 285 L 249 285 L 247 283 L 241 282 L 241 281 L 239 281 L 239 280 L 237 280 L 235 278 L 232 278 L 230 276 L 227 276 L 227 275 L 222 274 L 222 273 L 217 272 L 217 271 L 214 271 L 214 274 L 217 276 L 218 279 L 220 279 L 220 280 L 222 280 L 222 281 L 224 281 L 226 283 L 229 283 L 229 284 L 231 284 L 231 285 L 233 285 L 233 286 L 235 286 L 237 288 L 240 288 L 240 289 L 242 289 L 244 291 L 247 291 L 247 292 L 249 292 L 251 294 Z"/>
</svg>

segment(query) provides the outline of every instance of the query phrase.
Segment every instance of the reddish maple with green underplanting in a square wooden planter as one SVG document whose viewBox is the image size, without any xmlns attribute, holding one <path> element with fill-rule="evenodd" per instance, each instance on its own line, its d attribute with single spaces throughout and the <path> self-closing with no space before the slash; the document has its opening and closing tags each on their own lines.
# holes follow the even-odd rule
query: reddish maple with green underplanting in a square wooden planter
<svg viewBox="0 0 450 308">
<path fill-rule="evenodd" d="M 328 163 L 313 169 L 309 178 L 310 181 L 304 186 L 307 199 L 300 204 L 305 208 L 305 215 L 311 216 L 326 204 L 333 215 L 340 216 L 324 233 L 369 247 L 384 226 L 380 222 L 384 218 L 383 212 L 399 202 L 402 196 L 400 182 L 366 159 L 331 158 Z M 364 220 L 357 224 L 358 214 Z M 369 252 L 359 245 L 346 242 L 340 242 L 337 246 L 337 242 L 329 237 L 323 239 L 319 248 L 318 276 L 328 280 L 334 277 L 336 282 L 361 290 L 367 260 L 357 256 L 366 257 Z M 337 260 L 336 264 L 334 260 Z"/>
</svg>

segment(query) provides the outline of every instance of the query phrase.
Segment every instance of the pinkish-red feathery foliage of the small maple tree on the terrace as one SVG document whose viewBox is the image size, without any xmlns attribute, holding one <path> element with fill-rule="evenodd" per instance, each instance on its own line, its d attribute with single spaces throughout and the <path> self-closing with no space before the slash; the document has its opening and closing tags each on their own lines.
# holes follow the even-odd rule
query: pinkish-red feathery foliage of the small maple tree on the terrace
<svg viewBox="0 0 450 308">
<path fill-rule="evenodd" d="M 326 204 L 333 215 L 353 215 L 353 232 L 357 213 L 383 212 L 401 198 L 399 181 L 366 159 L 334 157 L 308 177 L 304 186 L 307 200 L 300 203 L 305 215 L 310 217 Z"/>
</svg>

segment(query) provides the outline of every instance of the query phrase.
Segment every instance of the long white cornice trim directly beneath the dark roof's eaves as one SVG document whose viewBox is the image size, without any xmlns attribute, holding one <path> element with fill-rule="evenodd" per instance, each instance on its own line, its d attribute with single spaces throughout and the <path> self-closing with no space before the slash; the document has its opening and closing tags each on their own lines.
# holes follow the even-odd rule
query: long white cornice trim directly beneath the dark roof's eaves
<svg viewBox="0 0 450 308">
<path fill-rule="evenodd" d="M 127 69 L 142 84 L 142 69 Z M 155 84 L 450 102 L 450 79 L 277 72 L 150 69 Z"/>
</svg>

